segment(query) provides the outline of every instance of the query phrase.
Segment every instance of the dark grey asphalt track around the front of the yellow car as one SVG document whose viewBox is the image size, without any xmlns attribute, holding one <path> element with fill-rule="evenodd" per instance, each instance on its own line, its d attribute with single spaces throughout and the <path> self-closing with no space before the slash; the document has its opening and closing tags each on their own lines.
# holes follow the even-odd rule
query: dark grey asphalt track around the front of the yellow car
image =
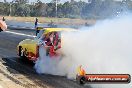
<svg viewBox="0 0 132 88">
<path fill-rule="evenodd" d="M 79 85 L 76 81 L 69 80 L 66 77 L 37 74 L 33 65 L 29 64 L 29 62 L 20 60 L 17 56 L 16 46 L 20 41 L 33 38 L 32 36 L 34 35 L 34 30 L 8 29 L 7 32 L 0 32 L 0 57 L 2 58 L 0 61 L 4 61 L 7 68 L 12 68 L 28 77 L 28 79 L 33 80 L 35 84 L 30 85 L 30 83 L 27 83 L 27 85 L 23 85 L 19 83 L 19 80 L 14 80 L 13 78 L 12 80 L 25 88 L 37 88 L 35 87 L 36 85 L 42 88 L 91 88 L 89 85 Z"/>
</svg>

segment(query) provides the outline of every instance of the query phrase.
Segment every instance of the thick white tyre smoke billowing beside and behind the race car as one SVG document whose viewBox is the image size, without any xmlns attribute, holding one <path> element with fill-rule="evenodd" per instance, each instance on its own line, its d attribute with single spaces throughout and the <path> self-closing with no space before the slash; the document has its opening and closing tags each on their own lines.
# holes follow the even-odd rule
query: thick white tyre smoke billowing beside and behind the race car
<svg viewBox="0 0 132 88">
<path fill-rule="evenodd" d="M 77 67 L 82 65 L 88 74 L 132 74 L 132 16 L 99 21 L 93 27 L 62 33 L 62 38 L 63 58 L 48 58 L 44 49 L 40 49 L 37 72 L 75 78 Z M 132 87 L 131 84 L 91 86 Z"/>
</svg>

